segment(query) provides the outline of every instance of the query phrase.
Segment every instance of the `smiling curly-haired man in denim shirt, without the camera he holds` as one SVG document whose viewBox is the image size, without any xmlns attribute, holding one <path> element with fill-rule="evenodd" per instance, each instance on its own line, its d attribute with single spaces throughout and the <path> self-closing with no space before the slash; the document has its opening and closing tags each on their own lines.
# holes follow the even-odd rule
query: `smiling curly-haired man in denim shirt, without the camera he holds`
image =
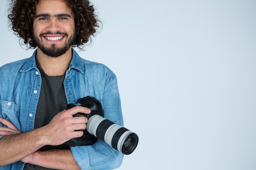
<svg viewBox="0 0 256 170">
<path fill-rule="evenodd" d="M 13 0 L 9 14 L 15 33 L 36 48 L 32 57 L 0 67 L 1 170 L 114 169 L 123 155 L 98 140 L 69 147 L 81 137 L 90 113 L 75 106 L 85 96 L 102 104 L 105 117 L 123 126 L 117 79 L 103 64 L 83 60 L 83 46 L 97 27 L 88 0 Z"/>
</svg>

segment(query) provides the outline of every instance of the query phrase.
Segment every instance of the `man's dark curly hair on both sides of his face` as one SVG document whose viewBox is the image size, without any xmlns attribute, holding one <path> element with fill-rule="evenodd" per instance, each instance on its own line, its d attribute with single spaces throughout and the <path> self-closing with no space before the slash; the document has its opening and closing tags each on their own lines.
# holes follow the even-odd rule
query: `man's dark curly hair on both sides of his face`
<svg viewBox="0 0 256 170">
<path fill-rule="evenodd" d="M 10 27 L 30 49 L 37 47 L 32 40 L 33 21 L 36 16 L 36 4 L 40 0 L 11 0 L 9 8 Z M 76 40 L 72 47 L 83 49 L 84 44 L 91 42 L 91 35 L 97 32 L 100 21 L 94 13 L 94 7 L 88 0 L 65 0 L 72 9 L 75 20 Z"/>
</svg>

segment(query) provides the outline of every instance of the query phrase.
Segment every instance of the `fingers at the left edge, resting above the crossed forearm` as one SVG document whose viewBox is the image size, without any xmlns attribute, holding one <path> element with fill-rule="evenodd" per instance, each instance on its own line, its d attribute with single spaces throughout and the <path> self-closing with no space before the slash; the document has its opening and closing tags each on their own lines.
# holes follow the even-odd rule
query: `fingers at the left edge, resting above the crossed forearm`
<svg viewBox="0 0 256 170">
<path fill-rule="evenodd" d="M 7 127 L 0 126 L 0 135 L 15 135 L 21 133 L 10 121 L 0 117 L 0 123 Z"/>
</svg>

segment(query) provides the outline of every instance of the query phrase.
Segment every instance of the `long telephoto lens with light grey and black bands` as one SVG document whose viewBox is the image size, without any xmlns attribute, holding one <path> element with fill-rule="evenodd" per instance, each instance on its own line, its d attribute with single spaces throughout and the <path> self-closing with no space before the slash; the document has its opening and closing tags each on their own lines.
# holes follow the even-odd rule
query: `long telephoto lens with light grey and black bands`
<svg viewBox="0 0 256 170">
<path fill-rule="evenodd" d="M 134 132 L 100 115 L 90 117 L 86 130 L 125 155 L 131 154 L 139 142 L 139 138 Z"/>
</svg>

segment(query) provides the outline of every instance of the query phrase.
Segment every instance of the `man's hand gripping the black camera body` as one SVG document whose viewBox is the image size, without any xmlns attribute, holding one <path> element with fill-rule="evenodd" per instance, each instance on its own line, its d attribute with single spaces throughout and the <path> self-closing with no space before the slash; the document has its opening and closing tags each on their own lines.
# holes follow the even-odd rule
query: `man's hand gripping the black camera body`
<svg viewBox="0 0 256 170">
<path fill-rule="evenodd" d="M 88 119 L 86 117 L 73 117 L 76 113 L 89 114 L 90 109 L 82 106 L 75 106 L 58 113 L 43 127 L 45 145 L 61 145 L 66 141 L 83 136 Z M 76 131 L 79 130 L 79 131 Z"/>
</svg>

